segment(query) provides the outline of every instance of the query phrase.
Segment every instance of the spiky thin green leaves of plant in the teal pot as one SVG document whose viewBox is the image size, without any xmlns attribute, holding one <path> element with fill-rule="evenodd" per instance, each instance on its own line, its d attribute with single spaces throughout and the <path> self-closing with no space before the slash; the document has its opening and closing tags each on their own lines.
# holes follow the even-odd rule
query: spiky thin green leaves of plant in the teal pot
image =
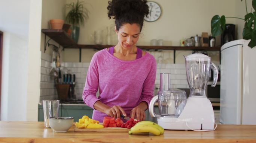
<svg viewBox="0 0 256 143">
<path fill-rule="evenodd" d="M 89 10 L 83 4 L 83 1 L 79 0 L 66 4 L 66 9 L 69 10 L 65 18 L 66 22 L 74 26 L 84 25 L 85 20 L 89 18 Z"/>
</svg>

